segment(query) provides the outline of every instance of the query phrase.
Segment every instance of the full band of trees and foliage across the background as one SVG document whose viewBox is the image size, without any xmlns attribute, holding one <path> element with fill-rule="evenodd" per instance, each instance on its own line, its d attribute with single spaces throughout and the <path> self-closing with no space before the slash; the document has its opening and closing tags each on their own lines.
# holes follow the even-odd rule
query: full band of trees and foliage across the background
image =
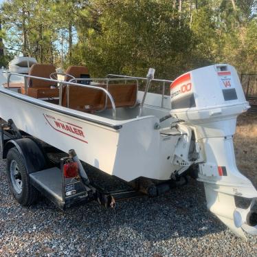
<svg viewBox="0 0 257 257">
<path fill-rule="evenodd" d="M 41 63 L 159 78 L 231 63 L 256 72 L 256 0 L 9 0 L 5 46 Z M 0 34 L 0 35 L 1 35 Z"/>
</svg>

